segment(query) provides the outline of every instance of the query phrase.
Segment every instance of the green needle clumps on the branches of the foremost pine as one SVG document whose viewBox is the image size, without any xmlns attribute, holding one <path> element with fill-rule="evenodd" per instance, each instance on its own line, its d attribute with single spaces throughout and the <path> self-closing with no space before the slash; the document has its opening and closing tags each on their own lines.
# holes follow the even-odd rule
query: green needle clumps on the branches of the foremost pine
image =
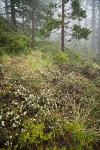
<svg viewBox="0 0 100 150">
<path fill-rule="evenodd" d="M 46 35 L 50 35 L 50 31 L 53 30 L 53 29 L 59 29 L 62 25 L 64 25 L 64 28 L 69 28 L 69 24 L 70 24 L 70 19 L 83 19 L 83 18 L 86 18 L 86 11 L 83 10 L 81 8 L 81 4 L 80 4 L 80 0 L 65 0 L 65 1 L 62 1 L 61 2 L 64 7 L 66 8 L 67 4 L 70 5 L 70 8 L 71 8 L 71 12 L 68 13 L 67 15 L 67 10 L 65 9 L 63 14 L 62 13 L 58 13 L 58 18 L 53 18 L 53 14 L 52 14 L 52 11 L 51 11 L 51 14 L 44 27 L 42 29 L 40 29 L 40 32 L 41 34 L 46 34 Z M 54 6 L 51 5 L 51 7 L 54 7 L 54 8 L 59 8 L 60 5 L 59 3 L 58 4 L 55 4 Z M 69 7 L 69 6 L 67 6 Z M 62 22 L 62 16 L 64 17 L 64 21 Z M 70 24 L 70 26 L 72 26 L 72 24 Z M 81 27 L 79 25 L 73 25 L 73 33 L 69 33 L 69 32 L 64 32 L 65 34 L 68 33 L 70 35 L 72 35 L 73 38 L 76 38 L 76 39 L 87 39 L 89 34 L 91 33 L 91 31 L 85 27 Z"/>
</svg>

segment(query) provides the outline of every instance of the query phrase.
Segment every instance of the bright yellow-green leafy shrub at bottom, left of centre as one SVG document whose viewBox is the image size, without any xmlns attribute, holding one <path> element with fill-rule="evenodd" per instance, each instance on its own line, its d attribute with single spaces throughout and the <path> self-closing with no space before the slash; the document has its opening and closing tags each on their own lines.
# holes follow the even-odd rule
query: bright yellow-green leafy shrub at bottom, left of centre
<svg viewBox="0 0 100 150">
<path fill-rule="evenodd" d="M 34 122 L 27 121 L 18 138 L 20 148 L 22 149 L 27 146 L 28 149 L 31 149 L 31 144 L 34 145 L 32 147 L 34 149 L 40 150 L 43 148 L 43 142 L 50 140 L 52 135 L 52 133 L 44 133 L 44 128 L 44 123 L 34 124 Z M 18 145 L 15 147 L 17 148 Z"/>
</svg>

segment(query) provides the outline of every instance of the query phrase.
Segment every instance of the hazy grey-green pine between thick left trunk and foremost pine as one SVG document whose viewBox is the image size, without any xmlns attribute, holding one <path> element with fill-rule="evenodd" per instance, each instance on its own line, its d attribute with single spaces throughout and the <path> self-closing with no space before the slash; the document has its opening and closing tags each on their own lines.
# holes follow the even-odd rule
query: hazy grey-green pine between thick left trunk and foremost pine
<svg viewBox="0 0 100 150">
<path fill-rule="evenodd" d="M 16 0 L 18 30 L 21 30 L 29 38 L 31 38 L 31 45 L 34 48 L 36 31 L 40 28 L 39 23 L 44 19 L 43 3 L 41 0 Z"/>
</svg>

